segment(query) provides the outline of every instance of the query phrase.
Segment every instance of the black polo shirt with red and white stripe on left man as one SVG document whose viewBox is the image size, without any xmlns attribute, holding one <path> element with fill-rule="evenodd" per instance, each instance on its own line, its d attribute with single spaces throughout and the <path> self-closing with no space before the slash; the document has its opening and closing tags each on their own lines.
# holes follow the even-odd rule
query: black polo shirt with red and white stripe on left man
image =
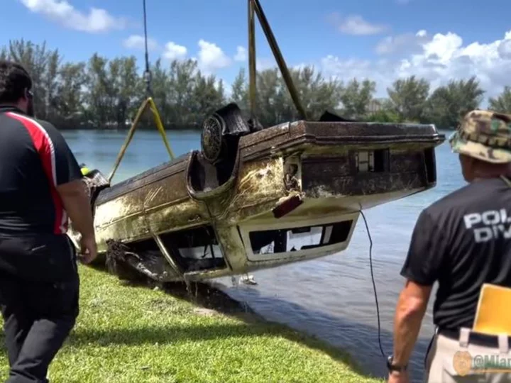
<svg viewBox="0 0 511 383">
<path fill-rule="evenodd" d="M 80 179 L 59 131 L 14 107 L 0 107 L 0 238 L 67 232 L 57 185 Z"/>
</svg>

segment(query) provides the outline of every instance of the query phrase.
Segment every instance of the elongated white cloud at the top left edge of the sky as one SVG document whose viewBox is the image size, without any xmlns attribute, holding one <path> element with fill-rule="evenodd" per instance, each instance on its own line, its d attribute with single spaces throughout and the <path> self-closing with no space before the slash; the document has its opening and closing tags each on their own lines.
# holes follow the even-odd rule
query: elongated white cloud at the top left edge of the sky
<svg viewBox="0 0 511 383">
<path fill-rule="evenodd" d="M 19 0 L 33 13 L 53 20 L 66 28 L 88 33 L 101 33 L 126 27 L 124 18 L 111 16 L 106 10 L 89 9 L 89 13 L 78 11 L 65 0 Z"/>
</svg>

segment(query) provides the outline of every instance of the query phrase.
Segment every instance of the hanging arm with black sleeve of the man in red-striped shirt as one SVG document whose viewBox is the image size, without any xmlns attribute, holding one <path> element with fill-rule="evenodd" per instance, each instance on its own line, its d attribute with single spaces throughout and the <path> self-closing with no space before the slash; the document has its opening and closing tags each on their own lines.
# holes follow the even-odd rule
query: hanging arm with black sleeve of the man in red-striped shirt
<svg viewBox="0 0 511 383">
<path fill-rule="evenodd" d="M 55 153 L 55 188 L 60 194 L 64 209 L 73 227 L 83 238 L 94 238 L 94 221 L 89 196 L 82 182 L 82 172 L 71 149 L 57 129 L 47 122 L 41 122 L 53 144 Z"/>
</svg>

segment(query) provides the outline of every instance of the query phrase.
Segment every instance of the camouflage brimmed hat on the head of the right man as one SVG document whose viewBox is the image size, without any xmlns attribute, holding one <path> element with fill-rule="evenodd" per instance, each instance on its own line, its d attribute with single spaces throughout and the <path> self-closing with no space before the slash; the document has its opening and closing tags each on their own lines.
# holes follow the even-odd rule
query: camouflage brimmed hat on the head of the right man
<svg viewBox="0 0 511 383">
<path fill-rule="evenodd" d="M 496 164 L 511 162 L 511 115 L 470 111 L 449 143 L 455 153 Z"/>
</svg>

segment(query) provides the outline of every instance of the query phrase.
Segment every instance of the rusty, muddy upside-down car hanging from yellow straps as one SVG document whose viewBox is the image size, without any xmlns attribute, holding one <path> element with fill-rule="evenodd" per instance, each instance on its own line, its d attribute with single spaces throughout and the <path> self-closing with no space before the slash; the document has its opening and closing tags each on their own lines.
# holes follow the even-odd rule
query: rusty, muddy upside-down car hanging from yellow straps
<svg viewBox="0 0 511 383">
<path fill-rule="evenodd" d="M 444 139 L 433 125 L 254 129 L 229 104 L 204 122 L 202 150 L 114 185 L 85 177 L 98 262 L 197 281 L 342 252 L 361 209 L 434 187 Z"/>
</svg>

